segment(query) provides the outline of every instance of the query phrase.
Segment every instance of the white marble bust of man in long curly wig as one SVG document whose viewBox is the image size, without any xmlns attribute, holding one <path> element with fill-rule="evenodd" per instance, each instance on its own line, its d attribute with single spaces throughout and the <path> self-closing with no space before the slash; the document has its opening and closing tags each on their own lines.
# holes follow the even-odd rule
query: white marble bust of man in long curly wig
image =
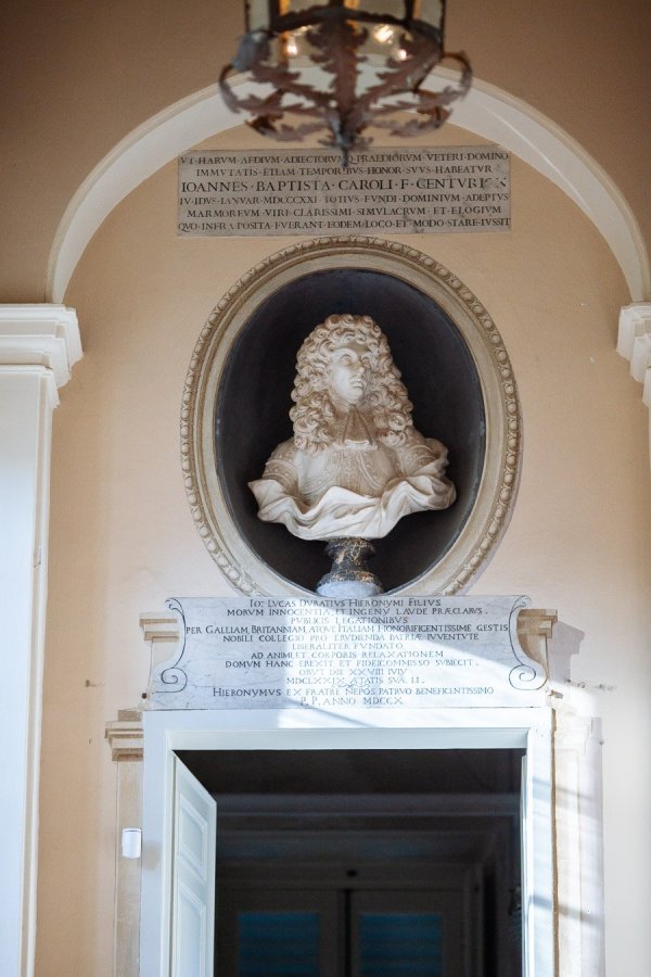
<svg viewBox="0 0 651 977">
<path fill-rule="evenodd" d="M 378 540 L 455 500 L 447 448 L 413 427 L 386 337 L 369 316 L 333 315 L 298 351 L 294 435 L 250 482 L 258 518 L 302 540 Z"/>
</svg>

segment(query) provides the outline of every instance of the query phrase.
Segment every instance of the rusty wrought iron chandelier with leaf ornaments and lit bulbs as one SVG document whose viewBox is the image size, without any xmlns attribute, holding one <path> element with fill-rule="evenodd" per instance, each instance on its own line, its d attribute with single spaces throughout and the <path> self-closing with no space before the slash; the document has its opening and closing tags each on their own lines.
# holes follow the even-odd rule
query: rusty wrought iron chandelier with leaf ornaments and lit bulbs
<svg viewBox="0 0 651 977">
<path fill-rule="evenodd" d="M 326 128 L 321 144 L 337 147 L 344 166 L 369 144 L 368 125 L 392 136 L 437 129 L 470 88 L 468 59 L 444 49 L 445 0 L 247 0 L 245 8 L 246 34 L 219 78 L 227 105 L 252 114 L 250 125 L 273 139 Z M 443 61 L 456 66 L 456 81 L 421 89 Z M 241 72 L 271 90 L 237 94 L 230 78 Z M 406 122 L 397 115 L 405 111 L 417 117 Z"/>
</svg>

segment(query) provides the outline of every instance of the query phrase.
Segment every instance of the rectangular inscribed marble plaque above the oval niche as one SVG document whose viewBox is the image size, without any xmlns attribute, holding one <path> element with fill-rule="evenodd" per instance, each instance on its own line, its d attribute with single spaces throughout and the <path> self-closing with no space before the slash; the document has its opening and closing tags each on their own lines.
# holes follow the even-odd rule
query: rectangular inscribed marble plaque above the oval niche
<svg viewBox="0 0 651 977">
<path fill-rule="evenodd" d="M 506 231 L 509 173 L 499 145 L 374 148 L 352 153 L 347 169 L 326 149 L 189 152 L 179 157 L 178 232 Z"/>
</svg>

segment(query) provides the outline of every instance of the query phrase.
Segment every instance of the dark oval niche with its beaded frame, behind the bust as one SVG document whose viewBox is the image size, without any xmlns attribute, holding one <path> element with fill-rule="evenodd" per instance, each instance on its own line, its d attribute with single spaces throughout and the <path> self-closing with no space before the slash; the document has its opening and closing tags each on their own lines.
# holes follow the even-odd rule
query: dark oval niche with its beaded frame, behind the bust
<svg viewBox="0 0 651 977">
<path fill-rule="evenodd" d="M 330 569 L 323 542 L 257 518 L 248 482 L 292 436 L 296 353 L 329 315 L 371 316 L 386 334 L 413 422 L 448 448 L 457 499 L 374 541 L 386 592 L 464 589 L 506 528 L 518 484 L 520 407 L 501 338 L 450 271 L 387 241 L 321 239 L 252 269 L 217 305 L 188 373 L 186 487 L 199 531 L 244 594 L 309 596 Z"/>
</svg>

